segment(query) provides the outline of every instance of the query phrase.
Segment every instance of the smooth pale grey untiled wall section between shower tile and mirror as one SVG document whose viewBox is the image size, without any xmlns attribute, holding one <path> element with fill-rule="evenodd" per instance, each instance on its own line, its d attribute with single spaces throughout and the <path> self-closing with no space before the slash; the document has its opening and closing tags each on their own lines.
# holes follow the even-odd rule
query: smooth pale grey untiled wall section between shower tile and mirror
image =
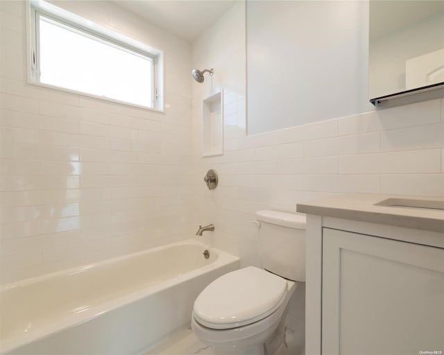
<svg viewBox="0 0 444 355">
<path fill-rule="evenodd" d="M 248 135 L 374 110 L 368 2 L 246 1 Z"/>
</svg>

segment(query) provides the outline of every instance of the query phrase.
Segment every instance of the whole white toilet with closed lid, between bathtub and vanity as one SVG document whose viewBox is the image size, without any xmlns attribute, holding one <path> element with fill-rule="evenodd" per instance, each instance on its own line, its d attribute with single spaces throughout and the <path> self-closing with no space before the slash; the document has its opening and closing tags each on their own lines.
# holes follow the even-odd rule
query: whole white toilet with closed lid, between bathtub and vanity
<svg viewBox="0 0 444 355">
<path fill-rule="evenodd" d="M 196 298 L 191 329 L 216 354 L 288 355 L 285 318 L 305 282 L 305 214 L 257 211 L 262 268 L 228 272 Z"/>
</svg>

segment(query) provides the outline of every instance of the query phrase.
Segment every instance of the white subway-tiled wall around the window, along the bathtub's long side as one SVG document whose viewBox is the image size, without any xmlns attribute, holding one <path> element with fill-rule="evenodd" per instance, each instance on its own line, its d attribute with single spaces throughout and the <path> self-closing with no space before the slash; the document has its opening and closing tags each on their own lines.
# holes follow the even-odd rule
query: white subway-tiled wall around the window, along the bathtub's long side
<svg viewBox="0 0 444 355">
<path fill-rule="evenodd" d="M 163 49 L 167 109 L 28 85 L 25 2 L 0 1 L 2 283 L 189 236 L 191 46 L 108 1 L 56 4 Z"/>
</svg>

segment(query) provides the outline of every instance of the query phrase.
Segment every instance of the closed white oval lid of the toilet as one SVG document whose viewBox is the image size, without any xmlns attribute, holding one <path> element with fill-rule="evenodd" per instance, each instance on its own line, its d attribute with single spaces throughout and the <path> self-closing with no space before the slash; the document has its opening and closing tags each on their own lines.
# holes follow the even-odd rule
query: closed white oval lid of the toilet
<svg viewBox="0 0 444 355">
<path fill-rule="evenodd" d="M 251 324 L 278 309 L 287 295 L 287 281 L 249 266 L 225 274 L 208 285 L 194 302 L 196 322 L 212 329 Z"/>
</svg>

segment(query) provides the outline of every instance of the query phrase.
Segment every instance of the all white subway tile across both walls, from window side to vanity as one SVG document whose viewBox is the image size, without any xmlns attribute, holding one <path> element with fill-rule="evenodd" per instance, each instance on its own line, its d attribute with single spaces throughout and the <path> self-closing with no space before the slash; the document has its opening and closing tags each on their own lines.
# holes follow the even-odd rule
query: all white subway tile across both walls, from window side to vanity
<svg viewBox="0 0 444 355">
<path fill-rule="evenodd" d="M 26 84 L 24 4 L 0 1 L 1 282 L 186 239 L 207 223 L 216 230 L 199 238 L 259 266 L 259 209 L 348 192 L 444 197 L 443 99 L 246 136 L 241 4 L 189 44 L 110 3 L 63 3 L 165 51 L 166 113 Z M 194 67 L 214 67 L 214 81 L 194 82 Z M 225 89 L 225 152 L 201 157 L 212 83 Z M 296 331 L 303 290 L 291 301 Z"/>
</svg>

